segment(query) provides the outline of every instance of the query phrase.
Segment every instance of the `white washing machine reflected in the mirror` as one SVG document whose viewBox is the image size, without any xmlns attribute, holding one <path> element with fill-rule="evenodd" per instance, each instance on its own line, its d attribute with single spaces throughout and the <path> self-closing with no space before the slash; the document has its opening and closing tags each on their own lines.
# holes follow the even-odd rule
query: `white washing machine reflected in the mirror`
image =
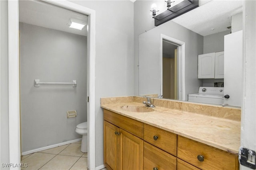
<svg viewBox="0 0 256 170">
<path fill-rule="evenodd" d="M 223 87 L 199 87 L 198 93 L 188 94 L 188 102 L 223 104 Z"/>
</svg>

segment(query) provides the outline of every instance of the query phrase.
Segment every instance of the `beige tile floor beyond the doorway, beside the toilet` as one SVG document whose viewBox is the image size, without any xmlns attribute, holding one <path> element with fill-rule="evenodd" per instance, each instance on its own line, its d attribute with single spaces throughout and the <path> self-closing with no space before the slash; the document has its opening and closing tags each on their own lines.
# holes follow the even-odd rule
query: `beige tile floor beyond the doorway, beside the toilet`
<svg viewBox="0 0 256 170">
<path fill-rule="evenodd" d="M 81 141 L 22 156 L 22 170 L 87 170 L 87 153 L 80 151 Z"/>
</svg>

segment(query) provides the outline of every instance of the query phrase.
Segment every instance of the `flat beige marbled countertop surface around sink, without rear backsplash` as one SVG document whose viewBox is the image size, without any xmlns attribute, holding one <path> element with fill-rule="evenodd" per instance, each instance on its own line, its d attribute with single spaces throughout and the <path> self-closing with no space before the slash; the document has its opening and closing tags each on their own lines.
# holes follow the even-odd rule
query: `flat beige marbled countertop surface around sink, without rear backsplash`
<svg viewBox="0 0 256 170">
<path fill-rule="evenodd" d="M 196 109 L 198 109 L 197 105 L 195 105 Z M 156 105 L 156 107 L 153 108 L 154 111 L 151 112 L 125 111 L 122 109 L 122 106 L 144 106 L 144 104 L 138 101 L 123 100 L 118 103 L 102 102 L 101 105 L 102 108 L 120 115 L 142 121 L 143 123 L 233 154 L 238 154 L 240 147 L 240 121 L 214 117 L 212 114 L 198 114 L 183 111 L 182 109 L 170 109 L 158 105 Z M 221 109 L 221 107 L 219 109 Z"/>
</svg>

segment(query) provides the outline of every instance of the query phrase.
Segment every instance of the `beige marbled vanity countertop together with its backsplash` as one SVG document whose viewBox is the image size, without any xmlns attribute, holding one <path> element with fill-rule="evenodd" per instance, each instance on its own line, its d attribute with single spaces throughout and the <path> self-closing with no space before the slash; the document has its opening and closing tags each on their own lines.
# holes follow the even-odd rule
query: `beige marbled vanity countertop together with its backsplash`
<svg viewBox="0 0 256 170">
<path fill-rule="evenodd" d="M 240 147 L 240 109 L 152 99 L 151 112 L 124 111 L 122 106 L 144 106 L 137 96 L 102 98 L 101 107 L 142 121 L 177 135 L 238 154 Z"/>
</svg>

